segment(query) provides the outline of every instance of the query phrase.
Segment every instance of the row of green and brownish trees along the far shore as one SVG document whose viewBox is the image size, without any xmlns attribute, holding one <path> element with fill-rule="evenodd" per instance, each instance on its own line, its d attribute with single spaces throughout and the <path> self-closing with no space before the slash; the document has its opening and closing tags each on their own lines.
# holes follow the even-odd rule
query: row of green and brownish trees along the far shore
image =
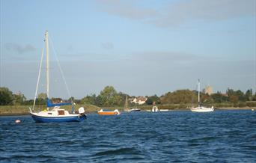
<svg viewBox="0 0 256 163">
<path fill-rule="evenodd" d="M 135 98 L 127 93 L 118 92 L 112 86 L 106 86 L 100 91 L 99 95 L 91 94 L 83 97 L 82 99 L 70 99 L 64 100 L 59 97 L 53 97 L 52 102 L 64 102 L 73 101 L 77 104 L 91 104 L 97 106 L 123 106 L 124 102 L 128 99 Z M 146 96 L 147 101 L 144 105 L 168 105 L 168 104 L 197 104 L 198 103 L 198 91 L 197 90 L 175 90 L 168 92 L 162 96 Z M 34 99 L 26 99 L 22 93 L 13 93 L 7 87 L 0 87 L 0 105 L 33 105 Z M 213 94 L 201 93 L 201 103 L 204 105 L 211 104 L 223 104 L 244 107 L 244 106 L 256 106 L 256 93 L 252 92 L 252 89 L 243 92 L 241 90 L 233 90 L 228 88 L 225 93 L 217 92 Z M 36 105 L 46 104 L 46 93 L 40 93 L 36 99 Z M 129 105 L 134 105 L 129 102 Z"/>
</svg>

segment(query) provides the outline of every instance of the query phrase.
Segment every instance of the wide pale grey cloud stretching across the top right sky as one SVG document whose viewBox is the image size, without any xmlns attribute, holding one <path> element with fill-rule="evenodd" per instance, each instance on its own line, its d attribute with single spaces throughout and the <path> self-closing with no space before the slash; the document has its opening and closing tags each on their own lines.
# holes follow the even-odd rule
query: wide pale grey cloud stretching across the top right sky
<svg viewBox="0 0 256 163">
<path fill-rule="evenodd" d="M 158 27 L 182 25 L 191 21 L 217 21 L 256 15 L 255 0 L 180 0 L 162 6 L 138 7 L 136 1 L 98 1 L 106 13 L 136 19 Z"/>
</svg>

